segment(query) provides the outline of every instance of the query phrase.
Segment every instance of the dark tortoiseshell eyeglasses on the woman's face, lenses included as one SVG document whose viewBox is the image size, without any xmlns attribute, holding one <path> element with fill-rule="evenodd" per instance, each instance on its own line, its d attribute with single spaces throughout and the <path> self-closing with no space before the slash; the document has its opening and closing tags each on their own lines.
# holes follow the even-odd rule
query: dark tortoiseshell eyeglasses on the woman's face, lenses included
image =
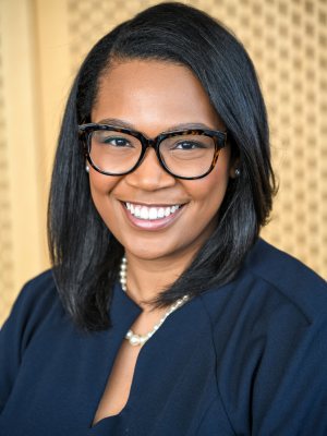
<svg viewBox="0 0 327 436">
<path fill-rule="evenodd" d="M 82 124 L 78 131 L 86 159 L 102 174 L 129 174 L 153 147 L 165 171 L 187 180 L 213 171 L 228 135 L 228 131 L 181 130 L 160 133 L 152 140 L 140 132 L 106 124 Z"/>
</svg>

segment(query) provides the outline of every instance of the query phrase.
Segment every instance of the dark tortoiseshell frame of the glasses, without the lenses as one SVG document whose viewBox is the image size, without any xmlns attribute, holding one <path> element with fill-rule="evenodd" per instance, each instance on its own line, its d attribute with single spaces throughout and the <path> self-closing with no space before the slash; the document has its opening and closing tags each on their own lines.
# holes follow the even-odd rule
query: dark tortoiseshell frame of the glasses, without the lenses
<svg viewBox="0 0 327 436">
<path fill-rule="evenodd" d="M 89 141 L 88 141 L 88 138 L 89 138 L 89 135 L 93 132 L 98 131 L 98 130 L 114 131 L 114 132 L 128 134 L 128 135 L 136 137 L 140 141 L 140 143 L 142 144 L 142 152 L 141 152 L 141 155 L 140 155 L 140 158 L 138 158 L 137 162 L 134 165 L 134 167 L 132 169 L 130 169 L 129 171 L 125 171 L 125 172 L 121 172 L 121 173 L 111 173 L 111 172 L 106 172 L 106 171 L 101 170 L 100 168 L 98 168 L 94 164 L 94 161 L 93 161 L 93 159 L 92 159 L 92 157 L 89 155 Z M 130 130 L 130 129 L 124 129 L 124 128 L 117 128 L 114 125 L 96 124 L 96 123 L 88 123 L 88 124 L 78 125 L 78 137 L 80 137 L 80 141 L 83 144 L 85 158 L 87 159 L 89 165 L 96 171 L 100 172 L 101 174 L 106 174 L 106 175 L 125 175 L 125 174 L 129 174 L 129 173 L 133 172 L 142 164 L 147 148 L 152 147 L 156 152 L 156 155 L 157 155 L 157 158 L 159 160 L 159 164 L 164 168 L 164 170 L 167 171 L 169 174 L 173 175 L 174 178 L 183 179 L 183 180 L 202 179 L 202 178 L 208 175 L 213 171 L 213 169 L 215 168 L 215 166 L 217 164 L 218 156 L 219 156 L 219 153 L 220 153 L 221 148 L 223 148 L 227 145 L 228 133 L 229 133 L 228 130 L 226 130 L 225 132 L 219 132 L 219 131 L 216 131 L 216 130 L 205 130 L 205 129 L 180 130 L 180 131 L 174 131 L 174 132 L 164 132 L 164 133 L 160 133 L 155 138 L 149 138 L 149 137 L 144 136 L 141 132 L 137 132 L 137 131 L 134 131 L 134 130 Z M 171 137 L 174 137 L 174 136 L 183 136 L 183 135 L 194 135 L 194 136 L 204 135 L 204 136 L 210 137 L 214 141 L 215 153 L 214 153 L 213 161 L 211 161 L 210 167 L 208 168 L 208 170 L 205 173 L 203 173 L 201 175 L 197 175 L 197 177 L 179 175 L 179 174 L 175 174 L 172 171 L 170 171 L 169 168 L 162 161 L 160 153 L 159 153 L 160 143 L 162 141 L 167 140 L 167 138 L 171 138 Z"/>
</svg>

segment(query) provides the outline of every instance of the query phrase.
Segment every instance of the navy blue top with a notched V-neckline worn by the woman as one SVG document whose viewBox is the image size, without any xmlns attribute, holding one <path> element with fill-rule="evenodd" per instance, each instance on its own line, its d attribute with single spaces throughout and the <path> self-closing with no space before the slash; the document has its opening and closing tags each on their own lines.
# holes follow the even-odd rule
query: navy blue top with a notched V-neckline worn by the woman
<svg viewBox="0 0 327 436">
<path fill-rule="evenodd" d="M 85 335 L 51 270 L 29 281 L 0 332 L 0 435 L 327 435 L 327 283 L 299 261 L 259 239 L 234 280 L 168 316 L 126 405 L 92 426 L 141 312 L 117 282 L 113 327 Z"/>
</svg>

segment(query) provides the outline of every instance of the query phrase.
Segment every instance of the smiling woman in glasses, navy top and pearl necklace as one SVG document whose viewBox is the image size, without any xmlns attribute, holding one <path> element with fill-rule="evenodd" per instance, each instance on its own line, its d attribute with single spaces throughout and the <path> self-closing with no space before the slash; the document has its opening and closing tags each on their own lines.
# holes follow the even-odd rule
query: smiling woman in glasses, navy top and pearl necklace
<svg viewBox="0 0 327 436">
<path fill-rule="evenodd" d="M 1 331 L 0 433 L 327 434 L 327 287 L 258 238 L 275 193 L 220 23 L 161 3 L 105 36 L 63 118 L 53 268 Z"/>
</svg>

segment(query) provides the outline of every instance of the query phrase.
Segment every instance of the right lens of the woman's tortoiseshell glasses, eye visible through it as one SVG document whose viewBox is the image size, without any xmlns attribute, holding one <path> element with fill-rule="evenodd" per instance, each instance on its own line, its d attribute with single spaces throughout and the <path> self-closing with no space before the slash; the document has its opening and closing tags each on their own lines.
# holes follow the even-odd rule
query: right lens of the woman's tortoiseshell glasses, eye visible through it
<svg viewBox="0 0 327 436">
<path fill-rule="evenodd" d="M 215 142 L 205 135 L 172 136 L 160 143 L 160 156 L 169 169 L 180 177 L 199 177 L 210 168 Z"/>
</svg>

